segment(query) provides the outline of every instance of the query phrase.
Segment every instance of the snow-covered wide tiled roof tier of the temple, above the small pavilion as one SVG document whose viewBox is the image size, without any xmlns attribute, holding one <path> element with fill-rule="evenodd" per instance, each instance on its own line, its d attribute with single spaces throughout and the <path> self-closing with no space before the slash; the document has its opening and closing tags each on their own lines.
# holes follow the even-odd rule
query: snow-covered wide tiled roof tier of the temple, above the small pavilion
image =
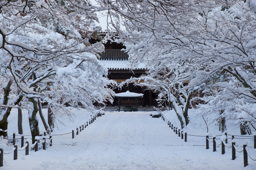
<svg viewBox="0 0 256 170">
<path fill-rule="evenodd" d="M 128 60 L 100 60 L 109 70 L 142 70 L 145 69 L 143 63 L 131 65 Z"/>
</svg>

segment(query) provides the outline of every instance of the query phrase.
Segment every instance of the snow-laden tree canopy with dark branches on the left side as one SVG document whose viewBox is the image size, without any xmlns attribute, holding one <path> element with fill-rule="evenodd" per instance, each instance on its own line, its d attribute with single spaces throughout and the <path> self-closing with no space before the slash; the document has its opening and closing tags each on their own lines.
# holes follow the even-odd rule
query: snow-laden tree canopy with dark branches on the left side
<svg viewBox="0 0 256 170">
<path fill-rule="evenodd" d="M 97 20 L 93 8 L 79 0 L 0 3 L 0 76 L 6 82 L 0 108 L 3 131 L 7 130 L 11 108 L 24 97 L 31 102 L 33 139 L 39 135 L 39 100 L 62 108 L 67 102 L 79 104 L 89 110 L 95 101 L 110 100 L 112 91 L 107 86 L 111 82 L 97 59 L 104 46 L 89 42 L 99 29 L 93 23 Z M 13 83 L 20 93 L 9 100 Z M 7 136 L 3 131 L 1 135 Z"/>
</svg>

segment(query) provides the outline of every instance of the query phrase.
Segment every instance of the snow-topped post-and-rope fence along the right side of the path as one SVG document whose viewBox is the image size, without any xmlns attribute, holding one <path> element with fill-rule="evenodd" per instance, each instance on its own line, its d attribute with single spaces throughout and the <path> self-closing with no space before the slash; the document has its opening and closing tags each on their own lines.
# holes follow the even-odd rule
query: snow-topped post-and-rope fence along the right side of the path
<svg viewBox="0 0 256 170">
<path fill-rule="evenodd" d="M 158 110 L 159 109 L 156 108 L 156 111 L 158 111 Z M 161 114 L 161 111 L 159 110 L 159 115 L 160 114 Z M 162 114 L 160 116 L 163 119 L 163 121 L 165 121 L 165 117 Z M 185 132 L 185 134 L 183 134 L 183 131 L 180 132 L 180 129 L 177 130 L 177 127 L 175 127 L 170 121 L 168 121 L 167 124 L 169 125 L 170 128 L 173 129 L 173 132 L 178 134 L 179 137 L 181 135 L 181 139 L 183 139 L 183 137 L 185 135 L 185 142 L 187 142 L 187 136 L 206 137 L 206 149 L 209 149 L 209 142 L 213 143 L 212 146 L 213 146 L 213 151 L 214 152 L 216 151 L 216 144 L 221 145 L 221 153 L 222 154 L 225 154 L 225 147 L 226 148 L 232 148 L 232 160 L 234 160 L 236 158 L 236 151 L 237 152 L 243 152 L 244 153 L 244 167 L 248 165 L 248 156 L 253 161 L 256 161 L 256 158 L 253 158 L 250 155 L 249 148 L 247 147 L 247 144 L 248 144 L 247 141 L 244 142 L 242 151 L 239 151 L 236 148 L 236 143 L 235 143 L 235 136 L 236 136 L 236 139 L 254 139 L 254 148 L 256 148 L 256 135 L 254 135 L 254 136 L 230 135 L 231 138 L 227 138 L 227 136 L 229 135 L 227 133 L 225 133 L 225 135 L 212 135 L 212 136 L 210 136 L 208 133 L 205 136 L 203 136 L 203 135 L 191 135 L 191 134 L 187 134 L 187 132 Z M 221 136 L 221 138 L 217 139 L 216 136 Z M 212 137 L 212 138 L 209 138 L 209 137 Z M 241 138 L 241 137 L 243 137 L 243 138 Z M 227 145 L 227 139 L 232 139 L 231 146 Z M 221 140 L 221 143 L 218 143 L 217 140 Z"/>
</svg>

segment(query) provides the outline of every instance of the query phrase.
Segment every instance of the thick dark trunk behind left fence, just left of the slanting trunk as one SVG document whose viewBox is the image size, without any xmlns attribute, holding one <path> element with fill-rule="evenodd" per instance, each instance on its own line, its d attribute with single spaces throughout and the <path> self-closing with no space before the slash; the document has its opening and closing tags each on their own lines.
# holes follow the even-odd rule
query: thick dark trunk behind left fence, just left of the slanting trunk
<svg viewBox="0 0 256 170">
<path fill-rule="evenodd" d="M 30 131 L 32 135 L 32 143 L 35 143 L 35 136 L 39 136 L 39 127 L 38 127 L 38 119 L 37 119 L 37 112 L 38 112 L 38 104 L 37 98 L 29 98 L 29 100 L 33 103 L 33 111 L 29 111 L 29 125 Z"/>
</svg>

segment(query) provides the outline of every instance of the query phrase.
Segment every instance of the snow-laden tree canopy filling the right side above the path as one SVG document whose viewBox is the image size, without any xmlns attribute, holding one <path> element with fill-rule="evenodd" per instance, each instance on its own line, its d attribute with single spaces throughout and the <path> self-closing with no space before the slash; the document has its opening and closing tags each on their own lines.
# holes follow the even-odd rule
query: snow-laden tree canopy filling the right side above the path
<svg viewBox="0 0 256 170">
<path fill-rule="evenodd" d="M 146 63 L 150 88 L 168 84 L 169 80 L 154 84 L 157 81 L 154 75 L 171 70 L 169 73 L 179 74 L 178 78 L 171 79 L 170 89 L 177 89 L 177 80 L 180 80 L 178 84 L 188 80 L 187 89 L 221 89 L 218 95 L 222 92 L 229 93 L 227 96 L 236 95 L 236 102 L 223 100 L 224 103 L 219 103 L 219 115 L 232 114 L 231 110 L 226 113 L 226 107 L 230 106 L 228 101 L 232 101 L 236 105 L 234 113 L 243 115 L 236 117 L 238 122 L 252 123 L 255 120 L 255 112 L 249 112 L 253 111 L 256 94 L 255 0 L 101 2 L 109 9 L 112 24 L 123 23 L 126 29 L 122 30 L 123 27 L 118 25 L 113 27 L 127 47 L 131 63 Z M 120 22 L 114 22 L 114 17 Z M 230 78 L 217 80 L 220 78 L 216 77 L 218 73 Z M 177 93 L 182 90 L 184 88 Z"/>
</svg>

